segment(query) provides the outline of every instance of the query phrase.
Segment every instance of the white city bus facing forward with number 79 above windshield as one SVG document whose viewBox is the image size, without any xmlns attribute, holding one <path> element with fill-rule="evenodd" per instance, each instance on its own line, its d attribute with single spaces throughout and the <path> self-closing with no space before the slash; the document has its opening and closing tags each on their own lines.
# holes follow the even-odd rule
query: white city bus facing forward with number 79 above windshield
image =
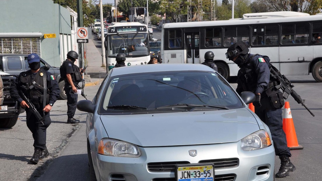
<svg viewBox="0 0 322 181">
<path fill-rule="evenodd" d="M 128 22 L 115 23 L 108 27 L 104 42 L 106 65 L 110 70 L 116 64 L 116 55 L 126 55 L 126 66 L 144 65 L 150 60 L 147 25 Z"/>
</svg>

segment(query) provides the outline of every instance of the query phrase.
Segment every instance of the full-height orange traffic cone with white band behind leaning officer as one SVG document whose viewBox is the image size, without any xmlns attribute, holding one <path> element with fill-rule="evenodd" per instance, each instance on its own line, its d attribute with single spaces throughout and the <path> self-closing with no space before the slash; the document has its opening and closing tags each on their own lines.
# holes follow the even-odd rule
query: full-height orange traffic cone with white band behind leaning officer
<svg viewBox="0 0 322 181">
<path fill-rule="evenodd" d="M 283 117 L 283 130 L 286 134 L 287 146 L 289 149 L 303 149 L 304 147 L 298 144 L 289 102 L 285 102 Z"/>
</svg>

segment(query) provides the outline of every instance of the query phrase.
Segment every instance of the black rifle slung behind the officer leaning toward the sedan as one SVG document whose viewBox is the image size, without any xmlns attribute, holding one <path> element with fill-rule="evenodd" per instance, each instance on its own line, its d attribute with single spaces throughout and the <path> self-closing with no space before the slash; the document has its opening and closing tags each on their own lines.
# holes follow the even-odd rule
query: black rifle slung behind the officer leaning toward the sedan
<svg viewBox="0 0 322 181">
<path fill-rule="evenodd" d="M 277 82 L 275 85 L 275 89 L 282 89 L 284 99 L 287 99 L 289 95 L 291 95 L 298 104 L 302 104 L 308 112 L 314 116 L 314 114 L 308 109 L 308 107 L 304 104 L 305 99 L 303 100 L 301 96 L 299 96 L 292 88 L 294 85 L 286 78 L 284 75 L 281 75 L 279 70 L 275 68 L 272 64 L 270 64 L 270 75 L 274 77 Z"/>
</svg>

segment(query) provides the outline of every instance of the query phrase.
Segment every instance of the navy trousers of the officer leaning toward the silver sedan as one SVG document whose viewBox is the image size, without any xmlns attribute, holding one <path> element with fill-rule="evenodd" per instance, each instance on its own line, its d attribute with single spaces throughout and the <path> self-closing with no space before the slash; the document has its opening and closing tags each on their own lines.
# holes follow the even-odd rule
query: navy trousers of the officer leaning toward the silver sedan
<svg viewBox="0 0 322 181">
<path fill-rule="evenodd" d="M 255 113 L 270 128 L 275 155 L 287 155 L 291 157 L 291 152 L 287 146 L 286 135 L 283 130 L 282 109 L 273 107 L 270 103 L 270 98 L 266 94 L 262 94 L 262 96 L 260 99 L 261 106 L 255 107 Z"/>
</svg>

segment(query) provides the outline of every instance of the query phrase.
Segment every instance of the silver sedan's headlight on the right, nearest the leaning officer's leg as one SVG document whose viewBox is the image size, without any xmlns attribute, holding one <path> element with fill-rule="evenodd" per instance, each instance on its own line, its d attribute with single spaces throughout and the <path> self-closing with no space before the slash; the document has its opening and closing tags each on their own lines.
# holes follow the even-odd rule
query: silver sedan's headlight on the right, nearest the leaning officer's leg
<svg viewBox="0 0 322 181">
<path fill-rule="evenodd" d="M 242 150 L 250 151 L 266 148 L 272 145 L 270 135 L 265 130 L 256 131 L 241 140 Z"/>
</svg>

